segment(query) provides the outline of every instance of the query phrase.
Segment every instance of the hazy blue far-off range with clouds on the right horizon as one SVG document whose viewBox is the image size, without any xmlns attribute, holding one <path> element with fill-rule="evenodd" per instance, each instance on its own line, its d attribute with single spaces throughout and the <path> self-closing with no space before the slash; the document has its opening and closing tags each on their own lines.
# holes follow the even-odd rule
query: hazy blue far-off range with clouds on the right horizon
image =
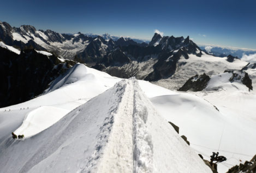
<svg viewBox="0 0 256 173">
<path fill-rule="evenodd" d="M 199 46 L 205 52 L 215 55 L 218 57 L 226 57 L 228 55 L 237 56 L 242 58 L 244 54 L 255 54 L 256 50 L 250 49 L 239 49 L 239 48 L 228 48 L 228 47 L 219 47 L 219 46 L 209 46 L 209 45 L 200 45 Z"/>
</svg>

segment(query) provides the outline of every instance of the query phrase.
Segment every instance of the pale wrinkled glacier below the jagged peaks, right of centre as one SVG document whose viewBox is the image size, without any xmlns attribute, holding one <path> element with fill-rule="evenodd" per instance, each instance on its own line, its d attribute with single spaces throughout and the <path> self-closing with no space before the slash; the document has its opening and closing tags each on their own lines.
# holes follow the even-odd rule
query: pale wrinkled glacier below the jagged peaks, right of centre
<svg viewBox="0 0 256 173">
<path fill-rule="evenodd" d="M 234 59 L 234 62 L 228 62 L 227 57 L 215 57 L 207 55 L 202 52 L 203 55 L 198 57 L 193 54 L 189 54 L 189 58 L 185 59 L 181 57 L 178 60 L 178 64 L 181 64 L 176 69 L 175 74 L 168 79 L 160 79 L 156 82 L 157 85 L 169 88 L 170 90 L 178 90 L 182 85 L 192 76 L 201 75 L 203 73 L 207 75 L 217 75 L 223 73 L 224 70 L 241 70 L 248 62 L 241 61 L 240 59 Z"/>
</svg>

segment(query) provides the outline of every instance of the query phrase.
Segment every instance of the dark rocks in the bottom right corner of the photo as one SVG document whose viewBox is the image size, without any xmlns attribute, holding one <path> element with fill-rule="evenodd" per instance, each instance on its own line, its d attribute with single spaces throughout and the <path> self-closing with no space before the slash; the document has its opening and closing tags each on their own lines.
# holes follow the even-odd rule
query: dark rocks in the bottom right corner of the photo
<svg viewBox="0 0 256 173">
<path fill-rule="evenodd" d="M 250 162 L 246 161 L 244 164 L 236 165 L 228 170 L 227 173 L 251 173 L 256 172 L 256 155 L 250 160 Z"/>
</svg>

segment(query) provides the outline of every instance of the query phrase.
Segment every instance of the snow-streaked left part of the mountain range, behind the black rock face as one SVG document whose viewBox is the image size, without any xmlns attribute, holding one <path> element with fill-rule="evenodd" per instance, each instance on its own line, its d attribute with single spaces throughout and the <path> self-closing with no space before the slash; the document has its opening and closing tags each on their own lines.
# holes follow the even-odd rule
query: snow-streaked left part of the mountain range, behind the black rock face
<svg viewBox="0 0 256 173">
<path fill-rule="evenodd" d="M 145 43 L 136 43 L 130 38 L 104 34 L 60 34 L 51 30 L 37 30 L 33 26 L 22 25 L 19 28 L 11 27 L 7 22 L 0 22 L 0 39 L 9 46 L 27 49 L 33 46 L 37 50 L 47 50 L 57 55 L 76 59 L 79 62 L 98 62 L 109 50 L 117 46 Z M 118 43 L 116 43 L 118 41 Z M 122 43 L 121 43 L 122 42 Z M 76 56 L 76 57 L 75 57 Z"/>
</svg>

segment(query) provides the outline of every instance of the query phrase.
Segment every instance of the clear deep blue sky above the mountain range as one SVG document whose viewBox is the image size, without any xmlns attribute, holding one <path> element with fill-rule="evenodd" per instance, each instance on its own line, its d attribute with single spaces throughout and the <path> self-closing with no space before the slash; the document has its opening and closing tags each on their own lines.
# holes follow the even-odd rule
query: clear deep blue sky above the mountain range
<svg viewBox="0 0 256 173">
<path fill-rule="evenodd" d="M 190 36 L 197 44 L 256 49 L 256 1 L 2 1 L 0 21 L 61 33 L 151 39 Z"/>
</svg>

